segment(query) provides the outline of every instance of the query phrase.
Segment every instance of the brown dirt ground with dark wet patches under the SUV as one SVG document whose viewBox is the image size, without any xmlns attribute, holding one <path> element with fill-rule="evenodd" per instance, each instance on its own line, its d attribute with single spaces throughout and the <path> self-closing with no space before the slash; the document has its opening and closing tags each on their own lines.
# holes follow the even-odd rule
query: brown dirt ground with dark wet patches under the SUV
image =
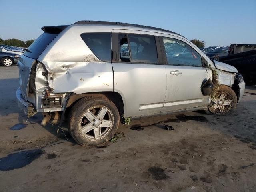
<svg viewBox="0 0 256 192">
<path fill-rule="evenodd" d="M 66 141 L 56 125 L 40 125 L 40 114 L 26 123 L 17 88 L 17 66 L 0 66 L 1 192 L 256 192 L 253 86 L 229 116 L 134 120 L 119 127 L 116 142 L 98 147 Z"/>
</svg>

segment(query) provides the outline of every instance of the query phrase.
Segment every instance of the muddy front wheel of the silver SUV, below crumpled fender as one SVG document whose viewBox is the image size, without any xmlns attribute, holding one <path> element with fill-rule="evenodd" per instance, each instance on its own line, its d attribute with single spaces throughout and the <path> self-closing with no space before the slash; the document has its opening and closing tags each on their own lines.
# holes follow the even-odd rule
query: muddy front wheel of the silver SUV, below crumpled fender
<svg viewBox="0 0 256 192">
<path fill-rule="evenodd" d="M 207 114 L 228 115 L 236 108 L 237 97 L 230 87 L 221 85 L 215 97 L 210 108 L 206 110 Z"/>
</svg>

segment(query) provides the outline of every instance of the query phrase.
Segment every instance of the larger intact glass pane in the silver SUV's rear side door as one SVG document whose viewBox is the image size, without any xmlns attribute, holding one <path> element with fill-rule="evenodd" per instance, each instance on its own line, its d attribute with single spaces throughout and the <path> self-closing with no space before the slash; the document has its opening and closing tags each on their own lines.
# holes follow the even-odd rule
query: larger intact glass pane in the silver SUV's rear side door
<svg viewBox="0 0 256 192">
<path fill-rule="evenodd" d="M 129 34 L 132 62 L 158 63 L 154 36 Z"/>
</svg>

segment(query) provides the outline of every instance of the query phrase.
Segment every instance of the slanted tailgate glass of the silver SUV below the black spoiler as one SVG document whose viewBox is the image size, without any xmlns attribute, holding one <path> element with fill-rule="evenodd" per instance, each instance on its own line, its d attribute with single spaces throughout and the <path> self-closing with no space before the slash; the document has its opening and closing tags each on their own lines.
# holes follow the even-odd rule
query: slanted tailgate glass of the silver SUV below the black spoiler
<svg viewBox="0 0 256 192">
<path fill-rule="evenodd" d="M 58 34 L 43 33 L 40 35 L 29 47 L 28 50 L 31 52 L 24 52 L 24 55 L 33 59 L 38 59 L 46 47 L 56 38 Z"/>
</svg>

